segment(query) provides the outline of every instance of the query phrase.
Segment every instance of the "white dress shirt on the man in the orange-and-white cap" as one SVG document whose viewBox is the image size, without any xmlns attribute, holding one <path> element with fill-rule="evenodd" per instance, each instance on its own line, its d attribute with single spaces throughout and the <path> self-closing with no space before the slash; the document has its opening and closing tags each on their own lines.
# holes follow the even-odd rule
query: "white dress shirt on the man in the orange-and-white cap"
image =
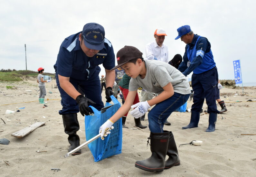
<svg viewBox="0 0 256 177">
<path fill-rule="evenodd" d="M 168 47 L 164 43 L 159 47 L 156 40 L 146 45 L 146 59 L 152 60 L 155 56 L 157 60 L 168 63 Z"/>
</svg>

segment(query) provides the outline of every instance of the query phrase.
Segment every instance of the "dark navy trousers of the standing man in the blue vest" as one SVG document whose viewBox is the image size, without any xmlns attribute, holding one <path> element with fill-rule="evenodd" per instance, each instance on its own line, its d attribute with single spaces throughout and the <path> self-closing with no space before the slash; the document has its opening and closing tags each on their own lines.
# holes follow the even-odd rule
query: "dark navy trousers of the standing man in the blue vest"
<svg viewBox="0 0 256 177">
<path fill-rule="evenodd" d="M 191 81 L 194 97 L 191 111 L 200 112 L 205 98 L 207 113 L 219 113 L 216 106 L 218 77 L 218 70 L 216 67 L 201 74 L 192 74 Z"/>
</svg>

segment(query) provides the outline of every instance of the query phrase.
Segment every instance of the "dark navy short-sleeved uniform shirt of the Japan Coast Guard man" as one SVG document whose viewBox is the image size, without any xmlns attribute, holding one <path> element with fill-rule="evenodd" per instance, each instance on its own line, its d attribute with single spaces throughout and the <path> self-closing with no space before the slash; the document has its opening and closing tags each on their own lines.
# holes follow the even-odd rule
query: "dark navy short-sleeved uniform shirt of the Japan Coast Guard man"
<svg viewBox="0 0 256 177">
<path fill-rule="evenodd" d="M 79 80 L 87 80 L 94 72 L 100 72 L 100 64 L 107 70 L 115 67 L 113 46 L 105 38 L 104 48 L 93 57 L 87 57 L 82 51 L 79 33 L 67 37 L 61 44 L 57 61 L 54 65 L 56 74 Z"/>
</svg>

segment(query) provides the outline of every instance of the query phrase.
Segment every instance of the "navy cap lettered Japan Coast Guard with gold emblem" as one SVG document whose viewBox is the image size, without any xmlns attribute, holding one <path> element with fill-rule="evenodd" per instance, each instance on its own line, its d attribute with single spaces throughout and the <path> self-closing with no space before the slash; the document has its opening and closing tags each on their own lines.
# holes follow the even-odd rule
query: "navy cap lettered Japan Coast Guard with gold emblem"
<svg viewBox="0 0 256 177">
<path fill-rule="evenodd" d="M 98 23 L 87 23 L 83 27 L 83 41 L 87 48 L 101 50 L 104 47 L 105 30 Z"/>
</svg>

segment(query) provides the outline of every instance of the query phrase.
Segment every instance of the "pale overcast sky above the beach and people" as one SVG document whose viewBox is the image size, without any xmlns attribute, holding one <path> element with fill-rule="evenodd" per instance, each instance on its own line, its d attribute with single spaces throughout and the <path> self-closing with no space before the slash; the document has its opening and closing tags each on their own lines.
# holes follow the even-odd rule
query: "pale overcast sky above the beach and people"
<svg viewBox="0 0 256 177">
<path fill-rule="evenodd" d="M 0 0 L 0 4 L 0 69 L 25 70 L 26 44 L 27 69 L 43 67 L 45 72 L 54 73 L 62 41 L 90 22 L 105 28 L 115 54 L 125 45 L 145 53 L 156 28 L 163 28 L 171 60 L 185 52 L 185 43 L 174 38 L 177 28 L 187 24 L 210 41 L 219 79 L 234 79 L 232 61 L 240 59 L 243 82 L 256 80 L 253 0 Z M 101 68 L 100 75 L 105 75 Z"/>
</svg>

